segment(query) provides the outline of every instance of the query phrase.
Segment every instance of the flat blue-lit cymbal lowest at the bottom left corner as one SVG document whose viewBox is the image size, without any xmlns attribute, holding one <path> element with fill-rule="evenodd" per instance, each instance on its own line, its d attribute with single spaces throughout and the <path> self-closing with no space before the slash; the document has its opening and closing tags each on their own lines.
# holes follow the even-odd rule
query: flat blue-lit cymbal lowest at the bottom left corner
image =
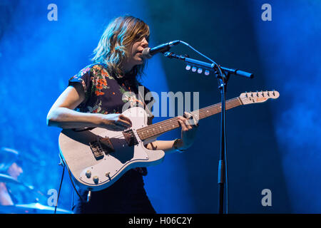
<svg viewBox="0 0 321 228">
<path fill-rule="evenodd" d="M 0 213 L 2 214 L 54 214 L 55 207 L 48 207 L 43 204 L 15 204 L 9 206 L 0 205 Z M 56 214 L 73 214 L 72 211 L 57 208 Z"/>
</svg>

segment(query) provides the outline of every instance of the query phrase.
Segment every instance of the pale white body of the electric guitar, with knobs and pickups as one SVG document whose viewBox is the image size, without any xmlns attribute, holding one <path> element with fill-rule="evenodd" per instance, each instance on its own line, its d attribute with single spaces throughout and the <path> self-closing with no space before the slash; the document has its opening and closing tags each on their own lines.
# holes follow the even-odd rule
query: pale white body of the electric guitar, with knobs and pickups
<svg viewBox="0 0 321 228">
<path fill-rule="evenodd" d="M 124 131 L 125 134 L 104 128 L 61 131 L 61 157 L 81 189 L 103 190 L 132 168 L 157 165 L 163 161 L 163 150 L 148 150 L 144 146 L 156 138 L 141 141 L 136 133 L 136 129 L 147 126 L 146 111 L 135 107 L 122 114 L 133 123 L 129 130 Z"/>
</svg>

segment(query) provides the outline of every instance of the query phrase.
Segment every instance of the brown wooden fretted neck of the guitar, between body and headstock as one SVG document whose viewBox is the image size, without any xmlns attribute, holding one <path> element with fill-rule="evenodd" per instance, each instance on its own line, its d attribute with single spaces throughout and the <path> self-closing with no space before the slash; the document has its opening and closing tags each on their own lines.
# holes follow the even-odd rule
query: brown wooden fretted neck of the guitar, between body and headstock
<svg viewBox="0 0 321 228">
<path fill-rule="evenodd" d="M 243 103 L 238 97 L 227 100 L 225 102 L 225 110 L 235 108 L 242 104 Z M 203 118 L 208 118 L 211 115 L 218 114 L 221 112 L 221 110 L 222 110 L 221 103 L 217 103 L 215 105 L 210 105 L 208 107 L 195 110 L 192 112 L 192 114 L 196 119 L 201 120 Z M 141 138 L 141 140 L 146 140 L 148 138 L 153 138 L 155 136 L 166 133 L 170 130 L 174 130 L 175 128 L 180 128 L 177 117 L 170 118 L 168 120 L 163 120 L 159 123 L 154 123 L 152 125 L 148 125 L 146 127 L 136 130 L 136 132 L 138 133 L 138 136 L 139 138 Z"/>
</svg>

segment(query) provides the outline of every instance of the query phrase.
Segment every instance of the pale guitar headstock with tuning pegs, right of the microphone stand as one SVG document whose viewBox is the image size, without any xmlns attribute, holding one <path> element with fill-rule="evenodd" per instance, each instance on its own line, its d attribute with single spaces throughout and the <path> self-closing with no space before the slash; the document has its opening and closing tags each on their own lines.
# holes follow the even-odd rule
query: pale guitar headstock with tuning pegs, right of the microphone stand
<svg viewBox="0 0 321 228">
<path fill-rule="evenodd" d="M 272 98 L 276 99 L 280 96 L 280 93 L 273 91 L 260 91 L 260 92 L 245 92 L 240 94 L 240 100 L 242 100 L 243 105 L 253 104 L 253 103 L 263 103 L 266 100 Z"/>
</svg>

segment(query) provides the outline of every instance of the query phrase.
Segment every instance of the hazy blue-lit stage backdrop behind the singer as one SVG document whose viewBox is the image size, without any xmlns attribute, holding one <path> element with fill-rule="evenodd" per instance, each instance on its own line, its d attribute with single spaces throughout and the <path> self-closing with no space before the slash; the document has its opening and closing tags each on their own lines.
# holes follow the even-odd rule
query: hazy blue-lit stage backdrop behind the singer
<svg viewBox="0 0 321 228">
<path fill-rule="evenodd" d="M 52 3 L 58 21 L 47 18 Z M 261 18 L 263 4 L 270 4 L 272 21 Z M 317 0 L 1 0 L 0 147 L 24 156 L 19 180 L 43 192 L 39 202 L 47 205 L 62 167 L 60 130 L 46 126 L 46 115 L 68 78 L 91 63 L 108 22 L 131 14 L 150 25 L 150 46 L 178 39 L 221 66 L 254 73 L 252 80 L 231 76 L 227 98 L 280 92 L 277 100 L 227 112 L 229 212 L 320 213 L 320 10 Z M 172 51 L 205 61 L 183 45 Z M 159 94 L 199 92 L 200 108 L 220 102 L 213 75 L 185 71 L 184 63 L 161 55 L 148 62 L 143 83 Z M 161 139 L 179 136 L 175 130 Z M 200 121 L 187 152 L 148 168 L 146 190 L 158 213 L 218 212 L 219 143 L 220 115 L 215 115 Z M 12 188 L 21 202 L 34 202 L 28 191 Z M 261 204 L 264 189 L 272 192 L 270 207 Z M 59 208 L 70 209 L 71 193 L 65 175 Z"/>
</svg>

